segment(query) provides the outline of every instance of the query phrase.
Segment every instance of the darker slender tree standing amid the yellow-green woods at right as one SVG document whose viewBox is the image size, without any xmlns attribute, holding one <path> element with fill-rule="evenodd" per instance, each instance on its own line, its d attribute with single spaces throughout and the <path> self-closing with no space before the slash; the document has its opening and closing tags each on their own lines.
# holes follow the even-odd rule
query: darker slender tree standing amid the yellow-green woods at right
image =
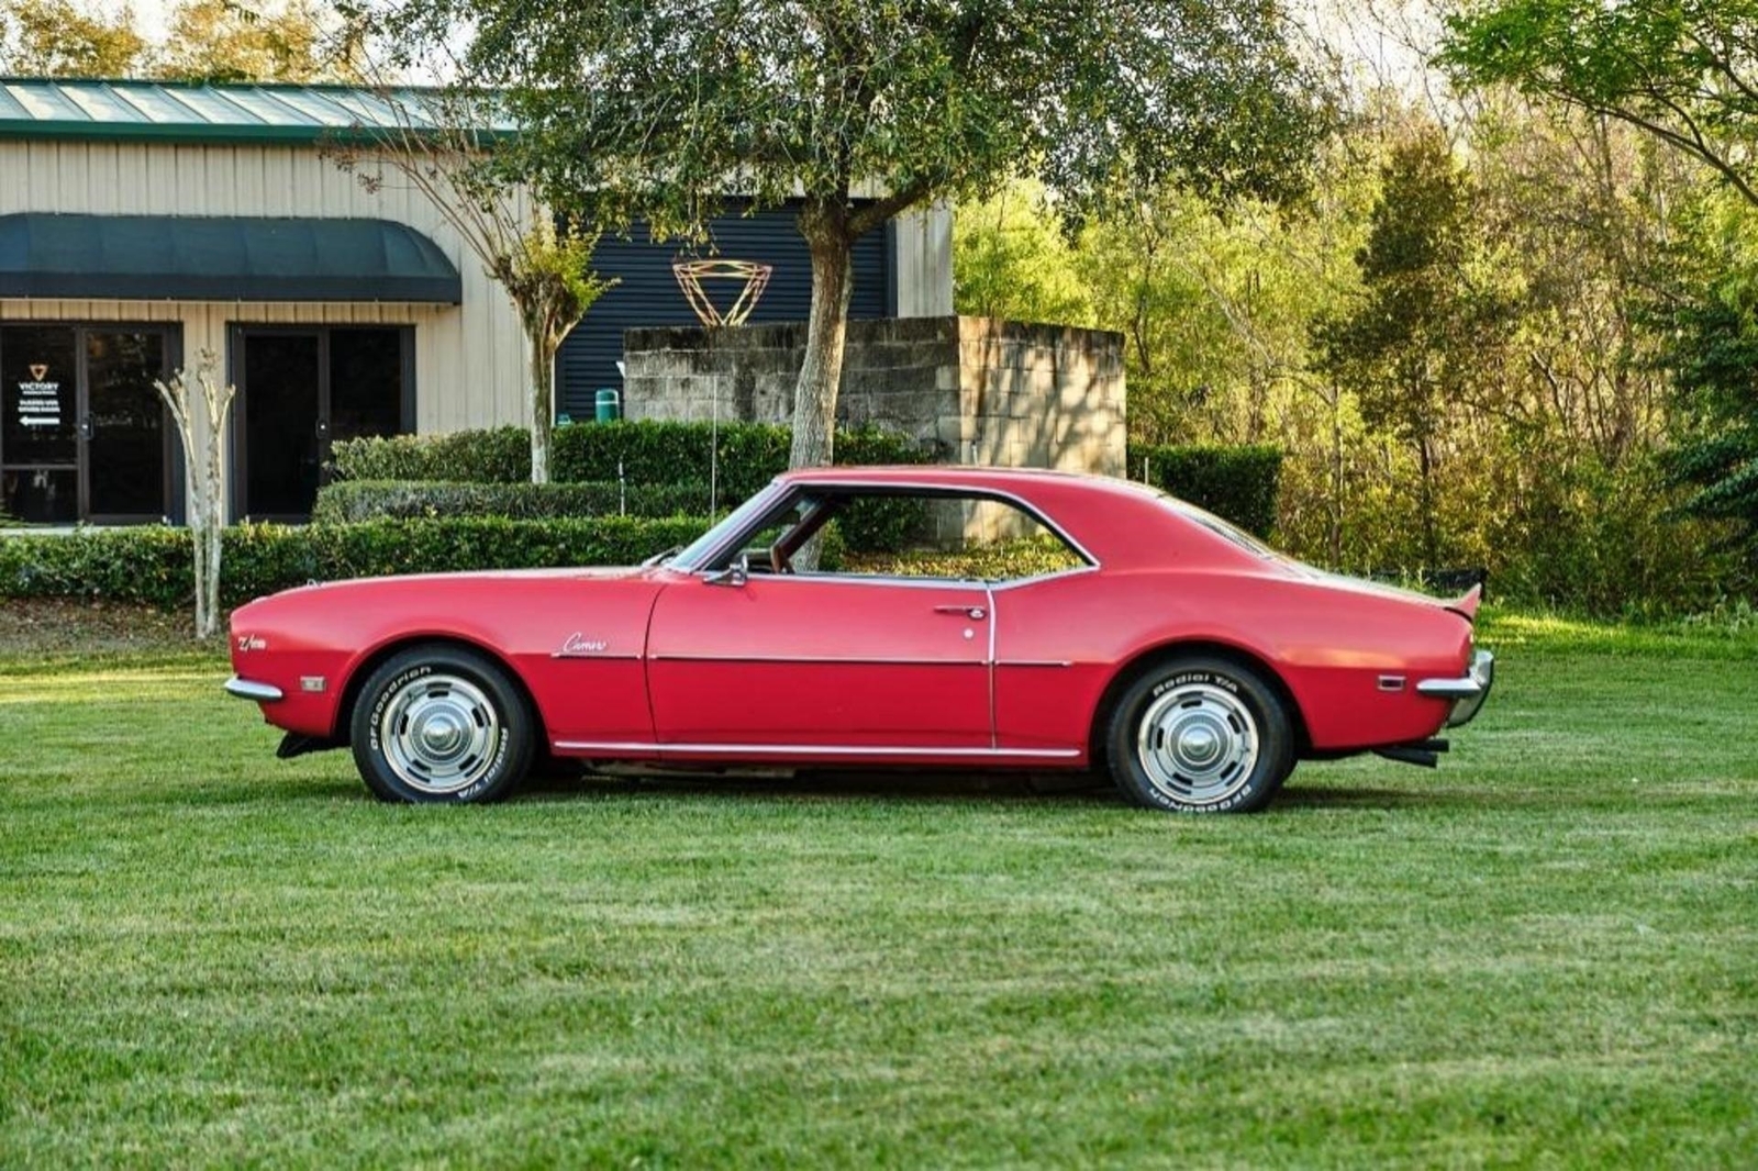
<svg viewBox="0 0 1758 1171">
<path fill-rule="evenodd" d="M 1471 271 L 1475 192 L 1440 130 L 1394 146 L 1382 185 L 1355 257 L 1364 295 L 1318 324 L 1318 366 L 1359 396 L 1368 425 L 1413 448 L 1422 556 L 1436 564 L 1435 484 L 1449 417 L 1494 375 L 1510 313 Z"/>
</svg>

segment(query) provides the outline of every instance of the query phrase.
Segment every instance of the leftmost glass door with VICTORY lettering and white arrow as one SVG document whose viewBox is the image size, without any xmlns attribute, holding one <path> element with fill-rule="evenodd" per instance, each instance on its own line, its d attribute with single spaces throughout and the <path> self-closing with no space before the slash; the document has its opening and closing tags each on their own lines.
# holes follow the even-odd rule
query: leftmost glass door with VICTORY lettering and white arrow
<svg viewBox="0 0 1758 1171">
<path fill-rule="evenodd" d="M 0 327 L 0 510 L 79 520 L 79 350 L 72 325 Z"/>
</svg>

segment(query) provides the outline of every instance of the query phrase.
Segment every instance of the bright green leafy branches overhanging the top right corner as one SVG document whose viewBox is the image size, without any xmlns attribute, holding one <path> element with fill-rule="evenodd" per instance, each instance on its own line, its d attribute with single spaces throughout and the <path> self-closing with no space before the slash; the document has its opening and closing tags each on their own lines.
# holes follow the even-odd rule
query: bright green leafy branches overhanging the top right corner
<svg viewBox="0 0 1758 1171">
<path fill-rule="evenodd" d="M 1489 0 L 1447 19 L 1440 60 L 1640 127 L 1758 204 L 1758 0 Z"/>
</svg>

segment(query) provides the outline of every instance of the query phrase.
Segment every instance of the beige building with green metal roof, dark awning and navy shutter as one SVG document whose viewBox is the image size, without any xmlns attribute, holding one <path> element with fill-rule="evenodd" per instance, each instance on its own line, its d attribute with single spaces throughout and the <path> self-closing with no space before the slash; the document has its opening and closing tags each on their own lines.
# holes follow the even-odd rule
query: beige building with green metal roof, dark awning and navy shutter
<svg viewBox="0 0 1758 1171">
<path fill-rule="evenodd" d="M 306 515 L 334 440 L 526 424 L 506 295 L 401 176 L 367 190 L 323 155 L 418 125 L 420 98 L 0 77 L 0 512 L 179 515 L 153 380 L 204 352 L 239 390 L 236 517 Z M 751 320 L 802 320 L 810 264 L 791 211 L 714 229 L 726 255 L 774 265 Z M 853 316 L 951 313 L 949 251 L 946 213 L 870 234 Z M 621 283 L 564 345 L 563 413 L 591 417 L 598 389 L 621 389 L 624 329 L 696 320 L 673 258 L 640 225 L 599 241 L 594 267 Z"/>
</svg>

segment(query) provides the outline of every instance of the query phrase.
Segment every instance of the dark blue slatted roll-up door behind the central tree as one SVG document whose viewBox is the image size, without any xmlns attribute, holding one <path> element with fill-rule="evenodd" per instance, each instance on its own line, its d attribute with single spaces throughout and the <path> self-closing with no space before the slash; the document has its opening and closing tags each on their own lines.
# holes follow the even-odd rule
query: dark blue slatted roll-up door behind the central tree
<svg viewBox="0 0 1758 1171">
<path fill-rule="evenodd" d="M 777 207 L 754 216 L 724 216 L 714 222 L 714 243 L 728 260 L 761 260 L 775 265 L 763 301 L 751 322 L 803 322 L 812 301 L 812 264 L 805 241 L 795 229 L 795 209 Z M 891 315 L 890 234 L 874 230 L 854 244 L 854 294 L 849 316 L 856 320 Z M 557 360 L 559 410 L 585 420 L 592 417 L 592 396 L 599 387 L 622 389 L 617 362 L 622 359 L 622 331 L 642 325 L 694 325 L 696 315 L 672 276 L 672 262 L 686 255 L 677 241 L 654 243 L 645 223 L 628 239 L 605 236 L 592 253 L 599 276 L 621 278 L 621 285 L 598 299 L 585 318 L 568 334 Z M 703 248 L 707 257 L 708 250 Z M 735 281 L 710 281 L 708 295 L 719 306 L 731 304 Z"/>
</svg>

